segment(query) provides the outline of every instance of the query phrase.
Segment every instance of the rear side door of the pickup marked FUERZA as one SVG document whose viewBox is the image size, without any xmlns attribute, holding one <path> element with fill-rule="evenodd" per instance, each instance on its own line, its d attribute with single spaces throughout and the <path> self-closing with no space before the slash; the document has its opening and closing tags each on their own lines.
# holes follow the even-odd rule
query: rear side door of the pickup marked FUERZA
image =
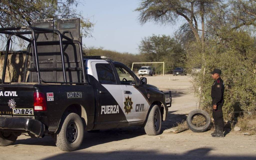
<svg viewBox="0 0 256 160">
<path fill-rule="evenodd" d="M 123 94 L 112 65 L 107 61 L 92 61 L 91 68 L 98 92 L 95 124 L 118 124 L 126 122 L 123 108 Z"/>
</svg>

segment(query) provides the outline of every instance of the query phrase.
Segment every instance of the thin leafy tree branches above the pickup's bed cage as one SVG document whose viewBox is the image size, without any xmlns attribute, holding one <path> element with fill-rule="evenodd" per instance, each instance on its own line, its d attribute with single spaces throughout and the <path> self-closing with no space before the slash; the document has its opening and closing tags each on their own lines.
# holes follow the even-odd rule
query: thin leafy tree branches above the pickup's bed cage
<svg viewBox="0 0 256 160">
<path fill-rule="evenodd" d="M 78 0 L 1 0 L 0 26 L 27 26 L 36 19 L 80 18 L 82 36 L 91 36 L 93 23 L 77 12 L 74 8 L 77 5 L 83 3 Z"/>
</svg>

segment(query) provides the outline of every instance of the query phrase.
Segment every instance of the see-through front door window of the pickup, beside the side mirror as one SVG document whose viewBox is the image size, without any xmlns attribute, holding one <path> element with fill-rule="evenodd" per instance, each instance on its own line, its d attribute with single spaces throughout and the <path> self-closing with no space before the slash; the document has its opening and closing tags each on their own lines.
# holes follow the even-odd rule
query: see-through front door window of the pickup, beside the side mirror
<svg viewBox="0 0 256 160">
<path fill-rule="evenodd" d="M 118 73 L 121 84 L 135 84 L 134 78 L 127 70 L 125 70 L 121 66 L 115 66 L 115 68 Z"/>
</svg>

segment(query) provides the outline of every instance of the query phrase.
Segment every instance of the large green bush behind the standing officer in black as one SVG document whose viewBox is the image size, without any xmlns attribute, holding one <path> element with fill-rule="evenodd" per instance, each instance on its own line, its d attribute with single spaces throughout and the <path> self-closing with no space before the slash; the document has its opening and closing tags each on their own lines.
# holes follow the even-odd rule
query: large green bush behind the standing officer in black
<svg viewBox="0 0 256 160">
<path fill-rule="evenodd" d="M 186 66 L 193 78 L 193 87 L 199 96 L 203 70 L 206 68 L 202 91 L 201 109 L 211 114 L 211 86 L 214 80 L 209 72 L 221 69 L 225 83 L 223 115 L 225 119 L 237 116 L 241 111 L 254 112 L 256 106 L 255 40 L 246 32 L 226 32 L 221 38 L 205 44 L 191 43 L 186 51 Z M 193 73 L 191 69 L 201 67 Z M 255 113 L 255 112 L 254 112 Z"/>
</svg>

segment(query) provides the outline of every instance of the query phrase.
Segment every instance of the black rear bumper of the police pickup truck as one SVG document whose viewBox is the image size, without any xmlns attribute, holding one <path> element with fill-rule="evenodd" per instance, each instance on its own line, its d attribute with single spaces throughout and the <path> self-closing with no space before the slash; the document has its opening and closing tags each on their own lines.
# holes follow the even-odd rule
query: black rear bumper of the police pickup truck
<svg viewBox="0 0 256 160">
<path fill-rule="evenodd" d="M 45 125 L 32 118 L 0 117 L 0 130 L 26 131 L 36 137 L 42 137 L 45 132 Z"/>
</svg>

